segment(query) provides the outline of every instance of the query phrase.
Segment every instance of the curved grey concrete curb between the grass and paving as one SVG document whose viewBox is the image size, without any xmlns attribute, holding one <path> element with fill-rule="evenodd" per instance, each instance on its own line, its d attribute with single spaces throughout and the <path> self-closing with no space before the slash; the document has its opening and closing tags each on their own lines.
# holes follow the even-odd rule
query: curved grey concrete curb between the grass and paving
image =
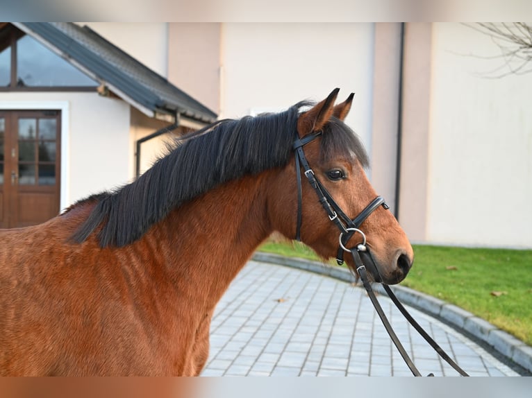
<svg viewBox="0 0 532 398">
<path fill-rule="evenodd" d="M 344 282 L 354 282 L 354 277 L 345 268 L 333 267 L 318 261 L 283 257 L 278 254 L 256 252 L 253 260 L 263 263 L 274 263 L 281 266 L 299 268 L 326 275 Z M 498 329 L 476 315 L 449 304 L 430 295 L 414 291 L 404 286 L 390 286 L 395 295 L 402 303 L 413 306 L 435 318 L 444 320 L 456 327 L 456 329 L 470 334 L 492 347 L 499 354 L 505 356 L 517 365 L 532 372 L 532 347 L 510 334 Z M 385 294 L 380 284 L 374 286 L 378 293 Z"/>
</svg>

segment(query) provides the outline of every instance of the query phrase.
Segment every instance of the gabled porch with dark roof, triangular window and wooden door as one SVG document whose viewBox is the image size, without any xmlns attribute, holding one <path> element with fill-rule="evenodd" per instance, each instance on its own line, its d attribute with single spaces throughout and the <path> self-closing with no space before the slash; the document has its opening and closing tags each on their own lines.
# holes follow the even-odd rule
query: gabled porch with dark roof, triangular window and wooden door
<svg viewBox="0 0 532 398">
<path fill-rule="evenodd" d="M 161 129 L 217 116 L 84 25 L 1 24 L 0 76 L 0 227 L 130 182 L 160 154 Z"/>
</svg>

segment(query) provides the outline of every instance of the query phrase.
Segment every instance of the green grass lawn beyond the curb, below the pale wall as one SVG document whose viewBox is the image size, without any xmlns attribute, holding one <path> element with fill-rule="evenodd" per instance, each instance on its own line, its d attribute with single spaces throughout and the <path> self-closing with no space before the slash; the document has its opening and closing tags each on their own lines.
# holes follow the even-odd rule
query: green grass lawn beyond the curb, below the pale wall
<svg viewBox="0 0 532 398">
<path fill-rule="evenodd" d="M 319 260 L 301 244 L 269 242 L 259 250 Z M 414 253 L 401 285 L 456 304 L 532 345 L 532 250 L 414 245 Z"/>
</svg>

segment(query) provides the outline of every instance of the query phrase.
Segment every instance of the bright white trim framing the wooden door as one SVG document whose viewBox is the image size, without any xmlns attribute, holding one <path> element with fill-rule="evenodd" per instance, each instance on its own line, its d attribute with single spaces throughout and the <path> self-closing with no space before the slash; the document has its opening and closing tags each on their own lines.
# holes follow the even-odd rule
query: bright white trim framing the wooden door
<svg viewBox="0 0 532 398">
<path fill-rule="evenodd" d="M 0 101 L 0 110 L 60 110 L 61 111 L 61 180 L 59 207 L 70 204 L 70 146 L 68 101 Z"/>
</svg>

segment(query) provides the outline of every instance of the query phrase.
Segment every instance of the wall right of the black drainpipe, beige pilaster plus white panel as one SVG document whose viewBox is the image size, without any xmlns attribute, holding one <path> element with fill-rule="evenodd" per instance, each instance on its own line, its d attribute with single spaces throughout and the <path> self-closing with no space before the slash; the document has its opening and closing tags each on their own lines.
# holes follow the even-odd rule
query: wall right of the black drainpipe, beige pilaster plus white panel
<svg viewBox="0 0 532 398">
<path fill-rule="evenodd" d="M 399 222 L 412 241 L 532 248 L 532 75 L 492 78 L 499 54 L 463 24 L 406 24 Z"/>
</svg>

